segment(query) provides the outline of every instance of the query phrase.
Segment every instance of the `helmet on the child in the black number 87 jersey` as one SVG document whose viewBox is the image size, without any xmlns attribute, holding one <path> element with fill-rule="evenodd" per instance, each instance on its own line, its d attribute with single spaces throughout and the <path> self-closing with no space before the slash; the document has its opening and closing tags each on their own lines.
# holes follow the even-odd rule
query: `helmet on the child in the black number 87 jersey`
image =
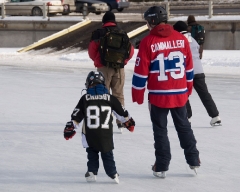
<svg viewBox="0 0 240 192">
<path fill-rule="evenodd" d="M 105 78 L 103 76 L 103 73 L 100 71 L 91 71 L 86 79 L 85 86 L 86 88 L 89 88 L 89 86 L 93 84 L 103 84 L 105 85 Z"/>
</svg>

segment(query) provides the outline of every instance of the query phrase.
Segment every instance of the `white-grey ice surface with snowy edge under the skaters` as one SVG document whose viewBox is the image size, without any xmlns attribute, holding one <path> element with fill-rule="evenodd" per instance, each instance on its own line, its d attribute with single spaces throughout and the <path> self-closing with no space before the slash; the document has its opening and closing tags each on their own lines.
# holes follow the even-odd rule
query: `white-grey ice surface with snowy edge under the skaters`
<svg viewBox="0 0 240 192">
<path fill-rule="evenodd" d="M 211 127 L 198 95 L 190 97 L 192 129 L 200 151 L 198 175 L 184 159 L 169 116 L 172 160 L 166 179 L 152 175 L 153 133 L 146 96 L 143 105 L 132 103 L 131 79 L 137 50 L 126 67 L 126 109 L 136 121 L 133 133 L 114 127 L 114 157 L 120 174 L 116 185 L 104 172 L 102 161 L 96 183 L 87 183 L 87 156 L 81 130 L 63 138 L 65 123 L 84 93 L 90 70 L 86 52 L 75 54 L 19 54 L 0 49 L 0 191 L 240 191 L 240 51 L 204 50 L 206 82 L 220 111 L 222 126 Z M 146 93 L 147 94 L 147 93 Z"/>
</svg>

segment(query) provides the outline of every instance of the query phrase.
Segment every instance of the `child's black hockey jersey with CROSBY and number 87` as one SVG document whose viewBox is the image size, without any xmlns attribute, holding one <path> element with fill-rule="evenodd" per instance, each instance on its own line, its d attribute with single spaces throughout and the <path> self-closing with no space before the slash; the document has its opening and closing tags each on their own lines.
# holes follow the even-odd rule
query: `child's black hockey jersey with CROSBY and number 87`
<svg viewBox="0 0 240 192">
<path fill-rule="evenodd" d="M 112 112 L 121 122 L 129 116 L 118 99 L 110 94 L 81 97 L 71 118 L 78 123 L 84 120 L 83 133 L 89 147 L 104 153 L 114 149 Z"/>
</svg>

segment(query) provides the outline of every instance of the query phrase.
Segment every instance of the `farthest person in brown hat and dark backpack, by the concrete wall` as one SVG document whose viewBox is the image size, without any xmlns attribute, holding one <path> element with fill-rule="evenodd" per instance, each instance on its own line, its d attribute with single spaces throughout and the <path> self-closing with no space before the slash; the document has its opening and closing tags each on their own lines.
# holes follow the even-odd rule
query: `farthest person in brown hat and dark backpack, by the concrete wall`
<svg viewBox="0 0 240 192">
<path fill-rule="evenodd" d="M 202 59 L 203 44 L 204 44 L 204 41 L 205 41 L 204 27 L 196 22 L 194 15 L 189 15 L 188 16 L 187 24 L 188 24 L 187 31 L 191 33 L 192 37 L 200 45 L 200 47 L 199 47 L 199 57 L 200 57 L 200 59 Z"/>
</svg>

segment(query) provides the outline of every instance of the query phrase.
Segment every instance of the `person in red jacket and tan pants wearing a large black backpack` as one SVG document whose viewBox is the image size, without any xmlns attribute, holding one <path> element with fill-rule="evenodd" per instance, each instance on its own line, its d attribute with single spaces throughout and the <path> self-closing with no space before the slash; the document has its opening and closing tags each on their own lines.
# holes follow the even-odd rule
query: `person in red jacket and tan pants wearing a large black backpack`
<svg viewBox="0 0 240 192">
<path fill-rule="evenodd" d="M 94 61 L 97 71 L 105 77 L 105 85 L 124 106 L 123 87 L 125 83 L 124 66 L 132 58 L 134 47 L 127 33 L 116 23 L 115 15 L 107 11 L 102 18 L 102 28 L 92 32 L 88 46 L 89 57 Z M 123 125 L 116 119 L 122 132 Z"/>
</svg>

